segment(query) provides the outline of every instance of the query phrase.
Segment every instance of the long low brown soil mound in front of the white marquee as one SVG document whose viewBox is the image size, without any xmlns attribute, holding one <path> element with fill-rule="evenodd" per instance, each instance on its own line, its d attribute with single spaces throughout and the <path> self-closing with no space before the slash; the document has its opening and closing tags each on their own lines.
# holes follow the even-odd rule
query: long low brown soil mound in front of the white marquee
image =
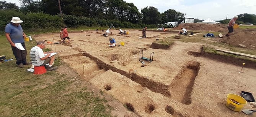
<svg viewBox="0 0 256 117">
<path fill-rule="evenodd" d="M 185 23 L 179 24 L 174 30 L 181 30 L 184 27 L 186 30 L 212 31 L 212 32 L 227 32 L 227 24 L 202 24 L 202 23 Z"/>
</svg>

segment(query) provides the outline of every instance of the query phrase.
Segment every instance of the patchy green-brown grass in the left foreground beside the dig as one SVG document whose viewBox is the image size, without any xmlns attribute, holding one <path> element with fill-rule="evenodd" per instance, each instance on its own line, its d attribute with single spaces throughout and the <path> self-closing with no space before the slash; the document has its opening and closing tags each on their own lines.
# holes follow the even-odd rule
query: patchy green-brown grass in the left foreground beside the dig
<svg viewBox="0 0 256 117">
<path fill-rule="evenodd" d="M 46 74 L 34 75 L 26 69 L 31 65 L 19 68 L 12 54 L 11 46 L 5 36 L 0 36 L 0 55 L 14 60 L 0 63 L 0 115 L 2 117 L 49 117 L 49 116 L 91 116 L 110 117 L 111 107 L 107 100 L 100 98 L 77 77 L 48 71 Z M 28 53 L 35 41 L 26 42 Z M 30 60 L 29 54 L 27 59 Z M 61 66 L 58 58 L 55 66 Z M 77 79 L 77 80 L 73 80 Z M 74 87 L 74 85 L 76 87 Z"/>
</svg>

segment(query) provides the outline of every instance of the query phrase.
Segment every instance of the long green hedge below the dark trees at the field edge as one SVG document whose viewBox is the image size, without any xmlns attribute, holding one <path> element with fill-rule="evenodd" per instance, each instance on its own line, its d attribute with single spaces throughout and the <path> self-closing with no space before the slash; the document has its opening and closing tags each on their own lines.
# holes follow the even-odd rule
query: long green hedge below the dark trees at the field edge
<svg viewBox="0 0 256 117">
<path fill-rule="evenodd" d="M 24 22 L 21 24 L 23 30 L 36 32 L 41 30 L 54 30 L 61 27 L 105 27 L 111 24 L 115 28 L 157 28 L 157 25 L 132 24 L 130 22 L 121 22 L 118 20 L 92 19 L 88 17 L 77 17 L 72 15 L 52 16 L 45 13 L 21 13 L 15 10 L 0 10 L 0 32 L 4 32 L 5 25 L 11 21 L 11 17 L 20 17 Z"/>
</svg>

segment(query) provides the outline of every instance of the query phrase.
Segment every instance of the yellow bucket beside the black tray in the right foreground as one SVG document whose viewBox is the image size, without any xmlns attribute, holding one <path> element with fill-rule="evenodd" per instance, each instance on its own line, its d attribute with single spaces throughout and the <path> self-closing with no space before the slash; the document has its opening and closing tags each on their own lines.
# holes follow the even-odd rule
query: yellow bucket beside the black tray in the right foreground
<svg viewBox="0 0 256 117">
<path fill-rule="evenodd" d="M 247 101 L 245 100 L 245 98 L 236 95 L 236 94 L 232 94 L 229 93 L 227 94 L 227 104 L 226 106 L 233 110 L 233 111 L 241 111 L 242 108 L 247 104 Z"/>
</svg>

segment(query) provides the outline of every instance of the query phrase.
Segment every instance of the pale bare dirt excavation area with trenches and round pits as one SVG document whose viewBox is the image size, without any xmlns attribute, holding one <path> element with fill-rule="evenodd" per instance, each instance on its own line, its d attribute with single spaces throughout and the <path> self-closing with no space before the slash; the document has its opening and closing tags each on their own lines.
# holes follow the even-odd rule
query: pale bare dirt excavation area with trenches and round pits
<svg viewBox="0 0 256 117">
<path fill-rule="evenodd" d="M 176 35 L 173 33 L 147 32 L 147 39 L 139 39 L 141 31 L 129 30 L 125 36 L 118 35 L 118 30 L 112 32 L 117 45 L 124 41 L 124 46 L 109 47 L 109 37 L 103 37 L 103 32 L 77 32 L 69 34 L 71 44 L 55 44 L 57 55 L 84 82 L 112 95 L 134 112 L 134 116 L 247 116 L 228 109 L 226 95 L 246 91 L 256 97 L 255 69 L 244 68 L 243 73 L 238 73 L 241 66 L 188 54 L 201 52 L 204 45 L 201 43 L 174 41 L 169 49 L 150 48 L 156 38 Z M 59 35 L 53 36 L 54 41 L 60 40 Z M 51 34 L 34 38 L 52 41 Z M 55 47 L 47 44 L 53 51 Z M 153 62 L 144 60 L 145 67 L 139 61 L 142 49 L 143 57 L 150 58 L 154 52 Z M 245 108 L 251 106 L 247 104 Z"/>
</svg>

